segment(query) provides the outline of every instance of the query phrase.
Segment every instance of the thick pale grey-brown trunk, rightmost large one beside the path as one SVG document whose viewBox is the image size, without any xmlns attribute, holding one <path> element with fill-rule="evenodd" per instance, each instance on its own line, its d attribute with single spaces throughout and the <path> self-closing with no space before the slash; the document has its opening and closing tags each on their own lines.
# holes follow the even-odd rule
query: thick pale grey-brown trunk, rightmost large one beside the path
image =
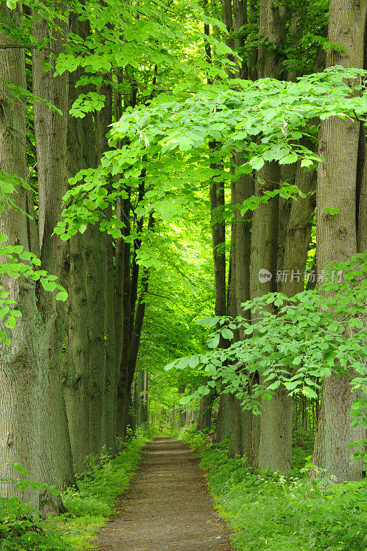
<svg viewBox="0 0 367 551">
<path fill-rule="evenodd" d="M 366 1 L 331 0 L 328 40 L 345 52 L 330 50 L 327 65 L 364 66 Z M 317 172 L 317 269 L 329 261 L 350 260 L 357 253 L 356 183 L 359 123 L 332 117 L 321 125 L 319 154 L 325 157 Z M 330 216 L 327 207 L 339 209 Z M 348 335 L 346 335 L 348 336 Z M 317 427 L 313 463 L 325 468 L 338 482 L 359 480 L 361 461 L 353 461 L 348 444 L 364 436 L 361 426 L 351 427 L 350 406 L 356 393 L 350 378 L 335 375 L 322 382 L 322 413 Z"/>
</svg>

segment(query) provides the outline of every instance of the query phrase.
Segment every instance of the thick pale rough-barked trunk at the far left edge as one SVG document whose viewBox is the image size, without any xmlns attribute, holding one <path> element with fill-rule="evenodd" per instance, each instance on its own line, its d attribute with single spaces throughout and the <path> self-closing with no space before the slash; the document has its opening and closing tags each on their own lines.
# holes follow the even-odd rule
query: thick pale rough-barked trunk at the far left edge
<svg viewBox="0 0 367 551">
<path fill-rule="evenodd" d="M 2 6 L 1 13 L 9 17 L 9 10 Z M 12 17 L 18 19 L 21 8 L 12 11 Z M 12 37 L 0 33 L 1 43 L 14 43 Z M 25 57 L 23 50 L 6 49 L 0 52 L 0 76 L 15 85 L 26 87 Z M 26 162 L 26 107 L 25 101 L 18 98 L 9 104 L 11 96 L 5 83 L 0 84 L 0 167 L 2 170 L 27 178 Z M 52 196 L 54 198 L 54 196 Z M 32 205 L 28 191 L 19 184 L 18 193 L 14 196 L 17 205 L 27 211 Z M 45 211 L 45 209 L 43 209 Z M 34 211 L 29 211 L 34 216 Z M 43 215 L 42 215 L 43 216 Z M 43 227 L 50 227 L 50 220 L 44 218 Z M 53 229 L 53 228 L 52 228 Z M 22 245 L 25 250 L 34 247 L 34 221 L 27 219 L 23 212 L 12 209 L 1 214 L 1 231 L 9 237 L 11 245 Z M 44 232 L 45 233 L 45 232 Z M 50 235 L 50 234 L 49 234 Z M 33 245 L 32 245 L 33 244 Z M 39 252 L 39 250 L 38 250 Z M 6 262 L 6 259 L 4 259 Z M 11 347 L 1 347 L 0 364 L 0 463 L 1 475 L 12 475 L 6 467 L 9 461 L 19 462 L 28 469 L 31 479 L 48 484 L 63 486 L 65 482 L 63 463 L 61 470 L 54 472 L 54 449 L 52 448 L 50 415 L 48 404 L 50 393 L 50 335 L 52 335 L 52 318 L 48 309 L 43 309 L 46 302 L 39 300 L 36 285 L 31 280 L 20 277 L 16 280 L 3 275 L 1 278 L 4 290 L 17 302 L 23 316 L 12 331 L 6 329 L 11 338 Z M 52 378 L 51 378 L 52 382 Z M 62 420 L 59 419 L 59 422 Z M 60 425 L 56 427 L 59 430 Z M 65 446 L 67 442 L 65 441 Z M 64 460 L 61 450 L 60 460 Z M 1 484 L 2 495 L 10 497 L 19 495 L 25 501 L 31 501 L 36 508 L 43 511 L 52 508 L 59 512 L 65 510 L 59 497 L 52 497 L 46 492 L 39 495 L 36 490 L 21 495 L 12 484 Z"/>
</svg>

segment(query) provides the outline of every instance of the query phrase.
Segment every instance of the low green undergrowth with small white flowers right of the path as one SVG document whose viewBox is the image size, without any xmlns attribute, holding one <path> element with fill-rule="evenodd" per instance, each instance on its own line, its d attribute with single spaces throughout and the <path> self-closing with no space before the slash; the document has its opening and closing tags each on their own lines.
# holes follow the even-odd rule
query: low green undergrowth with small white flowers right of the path
<svg viewBox="0 0 367 551">
<path fill-rule="evenodd" d="M 213 445 L 193 430 L 182 439 L 198 450 L 220 514 L 238 551 L 367 551 L 367 481 L 307 481 L 295 470 L 254 475 L 244 459 L 230 459 L 227 444 Z M 297 442 L 296 442 L 297 444 Z M 305 446 L 308 452 L 308 446 Z M 294 447 L 297 461 L 300 449 Z"/>
</svg>

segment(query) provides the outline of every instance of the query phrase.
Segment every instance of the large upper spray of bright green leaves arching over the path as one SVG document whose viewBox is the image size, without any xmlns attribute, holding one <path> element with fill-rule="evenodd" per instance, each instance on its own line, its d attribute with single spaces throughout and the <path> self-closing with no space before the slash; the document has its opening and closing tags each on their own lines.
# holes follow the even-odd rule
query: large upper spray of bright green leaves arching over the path
<svg viewBox="0 0 367 551">
<path fill-rule="evenodd" d="M 296 83 L 233 79 L 231 88 L 228 83 L 200 85 L 188 97 L 160 94 L 149 106 L 127 108 L 113 125 L 112 149 L 101 165 L 73 180 L 56 233 L 67 239 L 87 223 L 98 223 L 118 237 L 116 220 L 106 220 L 103 211 L 128 188 L 136 189 L 142 174 L 151 189 L 139 205 L 138 218 L 153 211 L 156 220 L 174 222 L 195 208 L 193 189 L 203 180 L 238 179 L 271 160 L 301 160 L 302 167 L 311 167 L 322 159 L 300 144 L 302 136 L 315 136 L 308 121 L 330 116 L 364 121 L 367 96 L 364 85 L 355 85 L 355 78 L 363 75 L 363 70 L 331 67 Z M 210 156 L 209 141 L 220 143 Z M 241 152 L 242 165 L 232 165 L 233 151 Z M 287 184 L 236 207 L 244 214 L 277 194 L 297 198 L 298 193 Z"/>
</svg>

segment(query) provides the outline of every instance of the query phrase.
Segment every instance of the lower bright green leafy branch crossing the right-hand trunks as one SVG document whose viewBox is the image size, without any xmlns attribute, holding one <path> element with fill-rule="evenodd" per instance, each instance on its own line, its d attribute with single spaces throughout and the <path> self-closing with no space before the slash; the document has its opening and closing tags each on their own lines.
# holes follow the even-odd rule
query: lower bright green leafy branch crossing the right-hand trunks
<svg viewBox="0 0 367 551">
<path fill-rule="evenodd" d="M 343 272 L 342 279 L 335 278 L 339 271 Z M 240 317 L 230 324 L 228 318 L 200 320 L 200 324 L 218 329 L 209 335 L 207 344 L 212 350 L 196 356 L 196 368 L 210 373 L 214 381 L 220 379 L 226 391 L 249 408 L 258 406 L 261 398 L 271 399 L 281 385 L 290 395 L 316 399 L 322 377 L 341 377 L 352 370 L 357 376 L 350 377 L 351 385 L 367 395 L 367 328 L 363 323 L 367 318 L 366 255 L 331 265 L 328 278 L 320 285 L 323 294 L 303 291 L 287 298 L 269 293 L 247 301 L 242 304 L 244 309 L 256 313 L 252 324 Z M 269 305 L 273 306 L 271 312 Z M 248 338 L 218 349 L 220 334 L 229 339 L 236 326 Z M 355 326 L 358 331 L 350 329 Z M 187 368 L 189 363 L 190 358 L 183 358 L 170 367 Z M 264 385 L 255 386 L 249 395 L 247 384 L 255 372 L 264 377 Z M 366 415 L 359 406 L 355 412 L 356 419 Z"/>
</svg>

